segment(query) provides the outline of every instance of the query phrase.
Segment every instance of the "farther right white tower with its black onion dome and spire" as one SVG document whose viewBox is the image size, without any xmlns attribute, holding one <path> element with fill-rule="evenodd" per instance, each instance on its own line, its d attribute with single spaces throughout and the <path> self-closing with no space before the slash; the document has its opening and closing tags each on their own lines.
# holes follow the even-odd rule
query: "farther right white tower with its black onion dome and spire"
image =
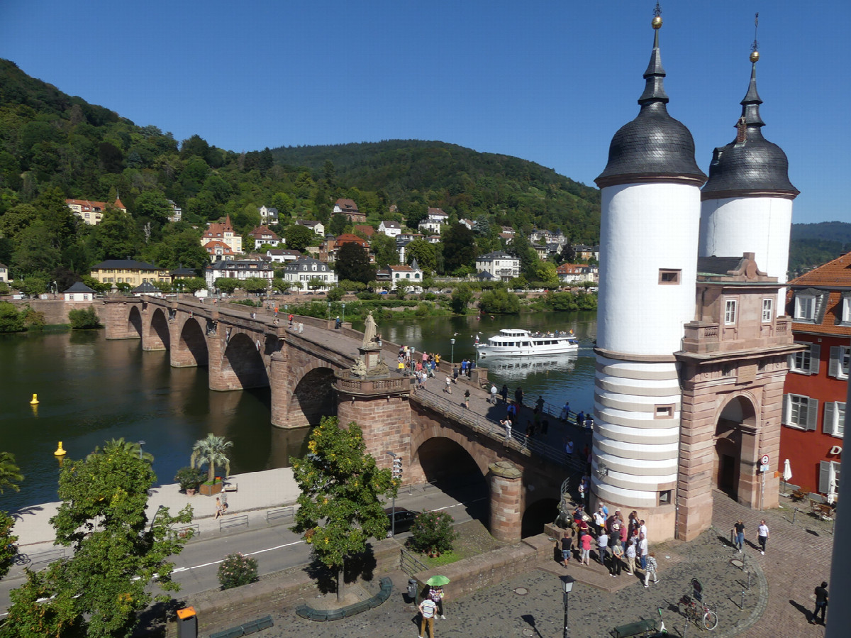
<svg viewBox="0 0 851 638">
<path fill-rule="evenodd" d="M 700 195 L 700 256 L 740 257 L 754 253 L 757 266 L 785 283 L 789 268 L 792 200 L 798 190 L 789 181 L 785 152 L 762 137 L 759 115 L 756 44 L 751 52 L 751 83 L 741 101 L 736 139 L 716 148 L 709 180 Z M 785 288 L 776 302 L 785 307 Z"/>
</svg>

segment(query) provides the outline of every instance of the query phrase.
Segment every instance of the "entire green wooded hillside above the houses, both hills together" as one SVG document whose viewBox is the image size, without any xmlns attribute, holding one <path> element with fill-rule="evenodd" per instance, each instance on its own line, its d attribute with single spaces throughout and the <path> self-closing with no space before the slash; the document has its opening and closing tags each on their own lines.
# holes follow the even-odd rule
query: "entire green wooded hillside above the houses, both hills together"
<svg viewBox="0 0 851 638">
<path fill-rule="evenodd" d="M 117 197 L 128 212 L 108 209 L 97 227 L 64 204 Z M 599 234 L 595 188 L 522 159 L 426 141 L 236 153 L 197 135 L 178 142 L 0 60 L 0 262 L 15 279 L 62 286 L 106 258 L 201 268 L 207 221 L 230 215 L 244 236 L 265 204 L 282 213 L 278 233 L 296 219 L 328 222 L 340 233 L 350 228 L 329 219 L 337 198 L 354 199 L 375 225 L 391 219 L 415 227 L 429 207 L 443 208 L 450 221 L 471 218 L 475 247 L 467 256 L 501 248 L 503 225 L 561 229 L 588 244 Z M 168 199 L 183 221 L 168 221 Z"/>
</svg>

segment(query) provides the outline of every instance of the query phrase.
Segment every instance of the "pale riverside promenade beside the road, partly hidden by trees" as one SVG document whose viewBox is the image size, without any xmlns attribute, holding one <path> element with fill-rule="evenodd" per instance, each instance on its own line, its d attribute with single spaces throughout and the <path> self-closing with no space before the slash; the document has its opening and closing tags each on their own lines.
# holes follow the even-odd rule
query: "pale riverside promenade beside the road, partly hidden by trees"
<svg viewBox="0 0 851 638">
<path fill-rule="evenodd" d="M 295 503 L 299 497 L 299 488 L 293 479 L 292 468 L 268 469 L 263 472 L 234 474 L 228 477 L 228 483 L 237 486 L 237 491 L 229 491 L 227 497 L 227 516 L 248 514 L 248 520 L 264 520 L 266 509 Z M 22 552 L 32 555 L 53 548 L 54 528 L 50 518 L 56 514 L 60 502 L 42 503 L 20 509 L 12 513 L 17 521 L 13 533 L 19 537 L 18 545 Z M 214 520 L 215 497 L 200 495 L 186 496 L 180 492 L 176 483 L 158 486 L 151 490 L 148 498 L 148 519 L 157 513 L 160 505 L 168 508 L 171 514 L 191 505 L 192 523 L 200 526 L 201 531 L 218 530 L 219 521 Z"/>
</svg>

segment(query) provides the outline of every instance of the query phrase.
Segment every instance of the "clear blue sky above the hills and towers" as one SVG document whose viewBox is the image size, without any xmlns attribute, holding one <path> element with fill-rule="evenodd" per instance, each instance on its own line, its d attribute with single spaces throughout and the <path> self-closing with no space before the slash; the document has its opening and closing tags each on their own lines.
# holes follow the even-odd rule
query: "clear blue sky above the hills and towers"
<svg viewBox="0 0 851 638">
<path fill-rule="evenodd" d="M 654 2 L 2 0 L 0 57 L 179 141 L 233 151 L 384 139 L 500 152 L 592 184 L 635 117 Z M 764 135 L 802 194 L 849 221 L 851 3 L 662 3 L 671 115 L 700 167 L 732 141 L 753 14 Z"/>
</svg>

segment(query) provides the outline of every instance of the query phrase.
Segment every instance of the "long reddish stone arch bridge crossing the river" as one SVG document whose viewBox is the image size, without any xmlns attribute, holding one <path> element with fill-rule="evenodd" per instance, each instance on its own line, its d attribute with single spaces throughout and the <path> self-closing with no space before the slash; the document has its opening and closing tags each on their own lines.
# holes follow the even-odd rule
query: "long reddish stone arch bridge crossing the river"
<svg viewBox="0 0 851 638">
<path fill-rule="evenodd" d="M 494 537 L 517 541 L 524 530 L 538 533 L 555 517 L 563 480 L 580 464 L 561 445 L 517 433 L 506 440 L 497 422 L 504 409 L 486 407 L 487 393 L 473 383 L 467 410 L 459 400 L 463 388 L 450 400 L 414 389 L 412 377 L 397 371 L 353 377 L 348 371 L 363 333 L 349 325 L 334 330 L 333 321 L 299 317 L 291 329 L 283 314 L 276 322 L 266 309 L 254 315 L 252 308 L 210 301 L 109 299 L 102 313 L 106 338 L 140 339 L 143 350 L 168 350 L 174 367 L 206 366 L 211 390 L 269 387 L 271 424 L 278 428 L 305 427 L 323 416 L 355 421 L 381 467 L 391 463 L 386 451 L 403 458 L 403 486 L 431 481 L 452 491 L 472 479 L 489 493 Z M 383 348 L 384 358 L 395 362 L 398 346 L 384 342 Z M 443 375 L 438 382 L 443 386 Z"/>
</svg>

